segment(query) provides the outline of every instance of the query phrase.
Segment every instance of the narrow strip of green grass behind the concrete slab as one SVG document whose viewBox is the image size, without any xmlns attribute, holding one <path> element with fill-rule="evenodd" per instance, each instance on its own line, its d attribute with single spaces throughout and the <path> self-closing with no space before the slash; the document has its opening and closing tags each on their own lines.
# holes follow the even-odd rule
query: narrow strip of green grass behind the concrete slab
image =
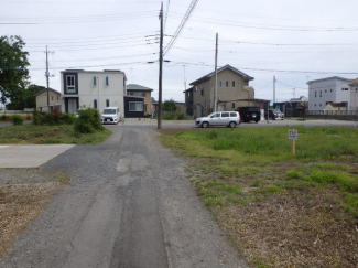
<svg viewBox="0 0 358 268">
<path fill-rule="evenodd" d="M 76 135 L 73 126 L 10 126 L 0 128 L 0 144 L 97 144 L 105 141 L 110 131 L 105 129 L 88 135 Z"/>
</svg>

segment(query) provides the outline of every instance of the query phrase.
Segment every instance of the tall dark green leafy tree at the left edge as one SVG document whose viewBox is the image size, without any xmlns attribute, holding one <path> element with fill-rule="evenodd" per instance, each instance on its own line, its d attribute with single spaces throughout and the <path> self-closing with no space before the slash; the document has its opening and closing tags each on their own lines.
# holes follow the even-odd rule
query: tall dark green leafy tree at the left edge
<svg viewBox="0 0 358 268">
<path fill-rule="evenodd" d="M 26 67 L 30 65 L 24 46 L 20 36 L 0 36 L 0 100 L 3 104 L 10 99 L 10 103 L 21 106 L 23 90 L 29 83 Z"/>
</svg>

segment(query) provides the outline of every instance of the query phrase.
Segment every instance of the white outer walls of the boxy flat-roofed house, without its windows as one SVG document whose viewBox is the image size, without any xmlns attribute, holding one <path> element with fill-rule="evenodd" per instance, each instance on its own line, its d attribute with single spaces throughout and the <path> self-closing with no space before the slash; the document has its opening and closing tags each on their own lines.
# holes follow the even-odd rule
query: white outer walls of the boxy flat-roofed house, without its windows
<svg viewBox="0 0 358 268">
<path fill-rule="evenodd" d="M 66 72 L 65 72 L 66 73 Z M 97 85 L 94 85 L 94 77 L 97 77 Z M 108 77 L 108 86 L 106 85 Z M 64 77 L 61 77 L 61 87 L 64 93 Z M 120 116 L 124 117 L 126 94 L 124 74 L 118 72 L 78 72 L 78 96 L 79 108 L 94 108 L 94 100 L 97 100 L 97 109 L 101 114 L 107 107 L 106 100 L 109 99 L 109 106 L 119 107 Z M 66 97 L 66 95 L 64 95 Z M 63 105 L 63 110 L 65 105 Z"/>
</svg>

